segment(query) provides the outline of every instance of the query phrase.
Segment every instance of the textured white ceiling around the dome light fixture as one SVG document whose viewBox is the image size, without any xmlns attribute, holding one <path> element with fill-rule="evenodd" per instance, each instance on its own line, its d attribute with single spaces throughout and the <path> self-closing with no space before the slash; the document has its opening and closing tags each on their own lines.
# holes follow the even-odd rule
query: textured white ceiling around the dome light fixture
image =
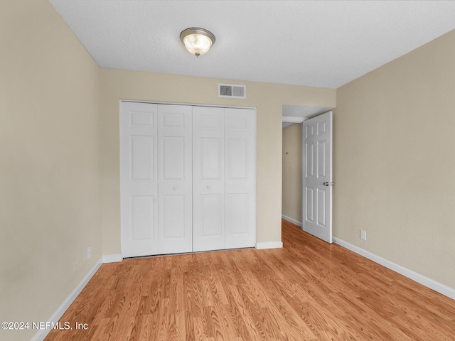
<svg viewBox="0 0 455 341">
<path fill-rule="evenodd" d="M 455 28 L 455 1 L 50 0 L 100 67 L 337 88 Z M 180 41 L 216 36 L 200 58 Z"/>
</svg>

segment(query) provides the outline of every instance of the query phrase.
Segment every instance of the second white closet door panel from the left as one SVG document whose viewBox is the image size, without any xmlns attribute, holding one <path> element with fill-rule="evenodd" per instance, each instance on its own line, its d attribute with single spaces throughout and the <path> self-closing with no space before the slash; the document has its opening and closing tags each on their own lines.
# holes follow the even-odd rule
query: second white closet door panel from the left
<svg viewBox="0 0 455 341">
<path fill-rule="evenodd" d="M 158 253 L 193 250 L 192 107 L 158 104 Z"/>
</svg>

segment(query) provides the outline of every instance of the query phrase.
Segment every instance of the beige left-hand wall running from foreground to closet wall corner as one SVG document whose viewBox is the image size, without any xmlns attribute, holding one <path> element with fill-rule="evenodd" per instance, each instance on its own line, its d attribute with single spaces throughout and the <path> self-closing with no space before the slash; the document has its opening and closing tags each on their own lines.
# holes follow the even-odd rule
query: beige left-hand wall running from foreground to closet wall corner
<svg viewBox="0 0 455 341">
<path fill-rule="evenodd" d="M 45 0 L 0 1 L 0 50 L 0 321 L 46 321 L 102 254 L 98 67 Z"/>
</svg>

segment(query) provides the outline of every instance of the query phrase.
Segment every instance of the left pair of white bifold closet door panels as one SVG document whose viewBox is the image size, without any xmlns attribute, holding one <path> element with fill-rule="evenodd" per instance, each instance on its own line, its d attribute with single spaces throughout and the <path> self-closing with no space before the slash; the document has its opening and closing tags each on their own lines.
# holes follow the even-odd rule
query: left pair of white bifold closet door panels
<svg viewBox="0 0 455 341">
<path fill-rule="evenodd" d="M 120 104 L 124 257 L 192 251 L 191 111 Z"/>
</svg>

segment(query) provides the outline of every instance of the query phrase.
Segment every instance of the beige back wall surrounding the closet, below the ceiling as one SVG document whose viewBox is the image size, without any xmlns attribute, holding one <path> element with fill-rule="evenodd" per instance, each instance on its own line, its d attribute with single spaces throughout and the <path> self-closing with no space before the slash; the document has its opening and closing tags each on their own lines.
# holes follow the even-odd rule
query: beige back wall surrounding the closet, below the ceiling
<svg viewBox="0 0 455 341">
<path fill-rule="evenodd" d="M 242 80 L 100 70 L 103 253 L 120 253 L 119 100 L 257 108 L 257 240 L 281 241 L 282 104 L 335 106 L 335 90 Z M 218 82 L 247 85 L 247 99 L 218 97 Z"/>
</svg>

